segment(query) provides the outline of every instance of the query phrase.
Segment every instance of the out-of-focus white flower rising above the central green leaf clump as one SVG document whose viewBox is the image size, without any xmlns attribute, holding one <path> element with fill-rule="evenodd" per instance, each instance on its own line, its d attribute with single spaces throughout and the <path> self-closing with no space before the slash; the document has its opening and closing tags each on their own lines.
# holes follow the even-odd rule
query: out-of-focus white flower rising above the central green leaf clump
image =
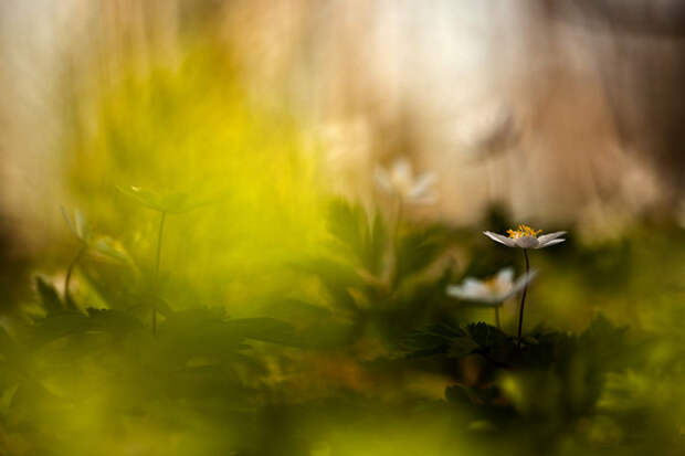
<svg viewBox="0 0 685 456">
<path fill-rule="evenodd" d="M 375 178 L 381 190 L 397 194 L 403 200 L 413 203 L 431 203 L 434 200 L 431 190 L 435 183 L 435 176 L 426 172 L 414 178 L 411 163 L 405 158 L 397 159 L 390 170 L 378 167 Z"/>
</svg>

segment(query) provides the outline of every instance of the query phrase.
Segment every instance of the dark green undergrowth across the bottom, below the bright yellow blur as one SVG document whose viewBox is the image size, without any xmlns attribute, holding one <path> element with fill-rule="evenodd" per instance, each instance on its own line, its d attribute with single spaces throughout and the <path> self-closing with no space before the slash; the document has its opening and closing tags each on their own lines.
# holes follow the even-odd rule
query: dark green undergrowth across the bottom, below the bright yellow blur
<svg viewBox="0 0 685 456">
<path fill-rule="evenodd" d="M 192 216 L 187 197 L 134 197 Z M 76 219 L 72 283 L 36 274 L 0 328 L 0 454 L 685 450 L 682 231 L 540 253 L 519 341 L 513 316 L 445 295 L 521 269 L 475 230 L 334 200 L 326 241 L 280 265 L 297 286 L 233 316 Z"/>
</svg>

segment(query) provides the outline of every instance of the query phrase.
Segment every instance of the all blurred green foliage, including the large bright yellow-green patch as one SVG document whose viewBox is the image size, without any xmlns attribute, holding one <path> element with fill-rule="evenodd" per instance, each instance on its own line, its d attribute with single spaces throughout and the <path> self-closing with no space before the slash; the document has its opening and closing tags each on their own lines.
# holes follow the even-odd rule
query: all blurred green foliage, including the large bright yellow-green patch
<svg viewBox="0 0 685 456">
<path fill-rule="evenodd" d="M 685 450 L 682 230 L 531 254 L 519 348 L 509 304 L 497 328 L 445 295 L 518 251 L 325 194 L 299 127 L 208 53 L 123 78 L 75 128 L 91 223 L 67 214 L 0 319 L 0 454 Z"/>
</svg>

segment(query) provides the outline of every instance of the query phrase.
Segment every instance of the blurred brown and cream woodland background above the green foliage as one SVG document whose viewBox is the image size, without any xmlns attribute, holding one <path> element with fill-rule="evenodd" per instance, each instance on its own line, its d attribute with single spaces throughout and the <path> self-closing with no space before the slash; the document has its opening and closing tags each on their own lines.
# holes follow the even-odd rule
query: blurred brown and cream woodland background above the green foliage
<svg viewBox="0 0 685 456">
<path fill-rule="evenodd" d="M 409 156 L 439 179 L 430 215 L 457 224 L 492 202 L 596 234 L 673 216 L 684 15 L 674 0 L 8 0 L 2 229 L 50 242 L 65 132 L 95 128 L 92 105 L 124 61 L 172 66 L 193 40 L 235 59 L 255 103 L 324 140 L 337 191 L 369 198 L 377 163 Z"/>
</svg>

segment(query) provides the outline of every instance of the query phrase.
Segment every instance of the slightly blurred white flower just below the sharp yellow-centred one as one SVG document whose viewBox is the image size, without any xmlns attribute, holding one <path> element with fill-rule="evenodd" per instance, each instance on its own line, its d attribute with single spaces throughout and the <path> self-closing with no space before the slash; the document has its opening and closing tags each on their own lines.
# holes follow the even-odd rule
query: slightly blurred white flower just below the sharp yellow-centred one
<svg viewBox="0 0 685 456">
<path fill-rule="evenodd" d="M 505 267 L 486 280 L 466 277 L 462 285 L 447 286 L 446 291 L 454 298 L 497 306 L 523 290 L 536 276 L 537 272 L 531 271 L 514 282 L 514 269 Z"/>
</svg>

